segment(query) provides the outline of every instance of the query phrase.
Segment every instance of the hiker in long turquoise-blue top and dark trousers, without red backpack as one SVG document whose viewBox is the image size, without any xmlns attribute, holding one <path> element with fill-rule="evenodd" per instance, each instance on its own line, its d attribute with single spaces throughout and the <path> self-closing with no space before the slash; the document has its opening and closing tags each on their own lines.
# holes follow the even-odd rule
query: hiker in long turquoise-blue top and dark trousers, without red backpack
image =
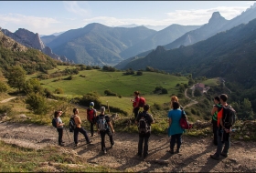
<svg viewBox="0 0 256 173">
<path fill-rule="evenodd" d="M 171 154 L 174 154 L 174 148 L 176 145 L 176 152 L 179 153 L 179 149 L 181 146 L 181 136 L 184 132 L 184 129 L 180 127 L 179 120 L 181 118 L 181 109 L 179 108 L 178 102 L 172 103 L 173 109 L 171 109 L 168 113 L 169 117 L 169 127 L 168 127 L 168 137 L 171 137 L 170 140 L 170 150 Z"/>
</svg>

